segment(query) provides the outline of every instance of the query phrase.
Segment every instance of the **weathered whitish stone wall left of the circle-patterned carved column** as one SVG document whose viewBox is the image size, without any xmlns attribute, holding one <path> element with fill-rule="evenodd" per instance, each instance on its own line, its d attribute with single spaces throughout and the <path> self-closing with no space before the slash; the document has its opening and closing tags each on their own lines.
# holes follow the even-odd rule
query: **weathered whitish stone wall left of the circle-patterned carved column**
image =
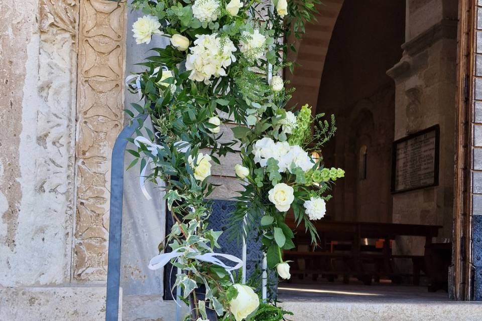
<svg viewBox="0 0 482 321">
<path fill-rule="evenodd" d="M 0 284 L 70 279 L 76 2 L 1 2 Z M 4 105 L 5 104 L 5 105 Z M 3 132 L 5 130 L 5 132 Z"/>
</svg>

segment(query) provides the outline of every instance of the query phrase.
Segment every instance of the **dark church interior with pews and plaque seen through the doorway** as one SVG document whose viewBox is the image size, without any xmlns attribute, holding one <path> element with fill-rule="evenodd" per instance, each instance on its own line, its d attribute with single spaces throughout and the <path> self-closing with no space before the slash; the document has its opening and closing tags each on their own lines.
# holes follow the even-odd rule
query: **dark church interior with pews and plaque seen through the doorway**
<svg viewBox="0 0 482 321">
<path fill-rule="evenodd" d="M 279 296 L 449 299 L 457 1 L 327 0 L 285 79 L 291 102 L 333 114 L 319 152 L 342 168 L 319 246 L 298 228 Z"/>
</svg>

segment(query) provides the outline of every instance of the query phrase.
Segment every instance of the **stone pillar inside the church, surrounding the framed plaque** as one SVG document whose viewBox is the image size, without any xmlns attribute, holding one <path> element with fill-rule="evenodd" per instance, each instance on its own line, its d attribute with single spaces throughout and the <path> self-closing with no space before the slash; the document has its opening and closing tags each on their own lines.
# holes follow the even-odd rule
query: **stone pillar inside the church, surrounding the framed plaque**
<svg viewBox="0 0 482 321">
<path fill-rule="evenodd" d="M 395 139 L 440 125 L 439 185 L 394 194 L 393 222 L 442 225 L 438 241 L 444 241 L 452 237 L 453 220 L 457 3 L 409 1 L 408 14 L 404 55 L 387 72 L 396 84 Z M 420 244 L 401 238 L 396 250 L 421 255 Z"/>
</svg>

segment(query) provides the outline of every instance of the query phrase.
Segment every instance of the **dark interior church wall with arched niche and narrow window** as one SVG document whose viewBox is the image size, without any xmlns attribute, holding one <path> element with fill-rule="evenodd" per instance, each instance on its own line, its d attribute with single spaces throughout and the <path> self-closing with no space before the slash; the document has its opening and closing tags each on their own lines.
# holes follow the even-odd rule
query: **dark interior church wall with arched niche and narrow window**
<svg viewBox="0 0 482 321">
<path fill-rule="evenodd" d="M 378 19 L 367 21 L 370 15 Z M 403 0 L 345 1 L 334 27 L 316 108 L 334 114 L 338 127 L 322 149 L 325 164 L 345 170 L 328 202 L 334 220 L 391 222 L 395 85 L 386 70 L 402 55 L 404 16 Z M 363 178 L 362 149 L 367 152 Z"/>
</svg>

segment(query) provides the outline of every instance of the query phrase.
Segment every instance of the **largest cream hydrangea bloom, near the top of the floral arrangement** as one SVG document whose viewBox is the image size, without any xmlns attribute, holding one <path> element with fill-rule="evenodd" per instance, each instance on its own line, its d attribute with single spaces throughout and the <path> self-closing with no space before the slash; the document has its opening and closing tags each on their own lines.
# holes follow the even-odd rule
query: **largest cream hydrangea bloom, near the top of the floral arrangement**
<svg viewBox="0 0 482 321">
<path fill-rule="evenodd" d="M 229 38 L 220 38 L 217 34 L 196 37 L 186 57 L 186 69 L 192 70 L 189 79 L 209 84 L 212 76 L 226 75 L 224 68 L 236 61 L 233 55 L 236 47 Z"/>
</svg>

